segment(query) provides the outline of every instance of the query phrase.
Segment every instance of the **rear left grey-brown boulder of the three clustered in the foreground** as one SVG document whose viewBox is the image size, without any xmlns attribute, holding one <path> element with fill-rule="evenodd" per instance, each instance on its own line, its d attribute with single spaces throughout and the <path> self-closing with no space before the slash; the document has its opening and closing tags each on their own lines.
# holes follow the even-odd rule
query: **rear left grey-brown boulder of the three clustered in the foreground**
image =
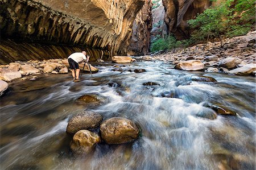
<svg viewBox="0 0 256 170">
<path fill-rule="evenodd" d="M 102 116 L 93 111 L 82 111 L 68 122 L 67 132 L 75 134 L 79 130 L 86 130 L 100 126 Z"/>
</svg>

